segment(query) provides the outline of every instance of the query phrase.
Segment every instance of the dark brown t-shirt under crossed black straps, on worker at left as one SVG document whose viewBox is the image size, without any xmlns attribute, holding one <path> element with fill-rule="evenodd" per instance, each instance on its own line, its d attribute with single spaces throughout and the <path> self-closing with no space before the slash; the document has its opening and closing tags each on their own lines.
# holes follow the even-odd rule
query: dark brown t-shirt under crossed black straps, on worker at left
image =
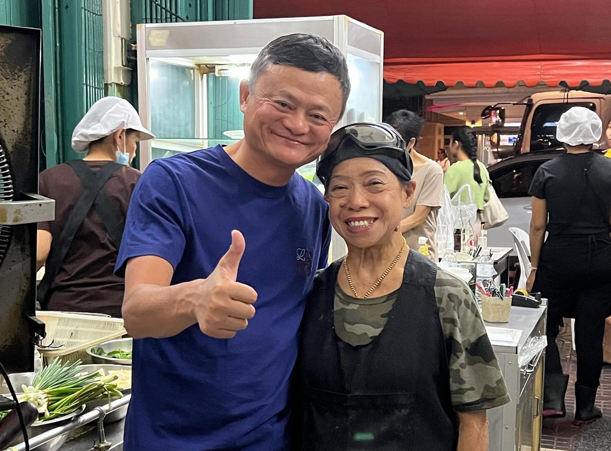
<svg viewBox="0 0 611 451">
<path fill-rule="evenodd" d="M 94 172 L 106 163 L 108 161 L 87 161 Z M 123 221 L 140 175 L 140 171 L 125 166 L 112 174 L 104 185 L 104 191 L 119 208 Z M 56 240 L 81 196 L 81 179 L 70 166 L 60 164 L 41 172 L 38 185 L 42 196 L 55 200 L 55 220 L 39 222 L 38 229 L 50 232 Z M 64 263 L 49 288 L 48 309 L 120 317 L 124 285 L 123 279 L 113 273 L 117 253 L 94 205 L 76 232 Z"/>
</svg>

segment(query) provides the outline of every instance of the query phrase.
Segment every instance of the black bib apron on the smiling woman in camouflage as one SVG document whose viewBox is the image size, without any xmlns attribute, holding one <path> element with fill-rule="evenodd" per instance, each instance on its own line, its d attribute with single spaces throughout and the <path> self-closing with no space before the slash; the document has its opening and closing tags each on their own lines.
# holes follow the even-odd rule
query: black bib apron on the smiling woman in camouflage
<svg viewBox="0 0 611 451">
<path fill-rule="evenodd" d="M 434 292 L 437 266 L 410 251 L 384 330 L 353 347 L 334 331 L 341 262 L 320 274 L 302 323 L 303 451 L 452 451 L 458 441 Z M 295 419 L 299 422 L 299 419 Z"/>
</svg>

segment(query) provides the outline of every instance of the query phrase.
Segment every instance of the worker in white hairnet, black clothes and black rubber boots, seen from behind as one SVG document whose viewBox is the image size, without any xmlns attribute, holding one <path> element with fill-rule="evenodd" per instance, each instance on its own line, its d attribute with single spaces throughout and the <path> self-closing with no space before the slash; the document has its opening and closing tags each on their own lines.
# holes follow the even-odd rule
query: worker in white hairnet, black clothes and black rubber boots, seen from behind
<svg viewBox="0 0 611 451">
<path fill-rule="evenodd" d="M 592 150 L 601 134 L 594 111 L 569 109 L 556 132 L 566 153 L 543 163 L 530 185 L 527 290 L 549 299 L 543 415 L 566 413 L 569 375 L 563 373 L 556 338 L 563 317 L 575 318 L 575 420 L 581 424 L 602 416 L 595 400 L 605 318 L 611 314 L 611 159 Z"/>
</svg>

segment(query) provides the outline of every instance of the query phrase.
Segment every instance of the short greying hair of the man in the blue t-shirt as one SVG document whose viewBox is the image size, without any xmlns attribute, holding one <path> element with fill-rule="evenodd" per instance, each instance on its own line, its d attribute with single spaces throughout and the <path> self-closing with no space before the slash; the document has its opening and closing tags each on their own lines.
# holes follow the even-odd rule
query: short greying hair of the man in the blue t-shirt
<svg viewBox="0 0 611 451">
<path fill-rule="evenodd" d="M 266 45 L 252 64 L 249 87 L 254 90 L 257 79 L 269 66 L 296 67 L 309 72 L 326 72 L 334 76 L 342 87 L 342 114 L 350 95 L 348 65 L 342 52 L 331 42 L 312 34 L 290 34 Z"/>
</svg>

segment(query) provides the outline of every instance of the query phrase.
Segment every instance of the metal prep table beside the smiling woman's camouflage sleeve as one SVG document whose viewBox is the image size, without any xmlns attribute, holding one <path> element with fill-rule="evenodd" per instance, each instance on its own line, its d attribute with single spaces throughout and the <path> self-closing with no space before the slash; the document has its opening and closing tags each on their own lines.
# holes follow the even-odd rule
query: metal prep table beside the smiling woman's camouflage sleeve
<svg viewBox="0 0 611 451">
<path fill-rule="evenodd" d="M 547 306 L 542 305 L 538 309 L 511 307 L 508 323 L 485 323 L 487 328 L 522 331 L 517 345 L 491 338 L 511 402 L 488 411 L 489 451 L 540 449 L 545 362 L 545 349 L 541 346 L 546 335 L 546 320 Z M 533 354 L 535 344 L 539 345 L 539 350 Z"/>
</svg>

